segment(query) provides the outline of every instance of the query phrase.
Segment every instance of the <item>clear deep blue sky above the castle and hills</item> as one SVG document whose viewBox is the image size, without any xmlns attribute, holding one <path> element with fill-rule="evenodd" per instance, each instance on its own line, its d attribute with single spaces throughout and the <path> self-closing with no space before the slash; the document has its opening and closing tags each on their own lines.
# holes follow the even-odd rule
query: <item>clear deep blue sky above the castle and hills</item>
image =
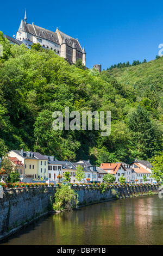
<svg viewBox="0 0 163 256">
<path fill-rule="evenodd" d="M 155 59 L 163 44 L 163 1 L 1 1 L 0 31 L 16 35 L 24 10 L 27 22 L 78 38 L 86 66 L 106 69 L 119 62 Z"/>
</svg>

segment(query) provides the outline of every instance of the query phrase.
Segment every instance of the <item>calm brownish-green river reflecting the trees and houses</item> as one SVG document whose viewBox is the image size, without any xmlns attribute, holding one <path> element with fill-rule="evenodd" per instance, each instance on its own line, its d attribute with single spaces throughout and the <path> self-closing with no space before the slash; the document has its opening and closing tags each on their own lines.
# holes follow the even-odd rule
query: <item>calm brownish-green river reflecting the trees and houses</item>
<svg viewBox="0 0 163 256">
<path fill-rule="evenodd" d="M 163 245 L 163 199 L 126 198 L 48 215 L 1 245 Z"/>
</svg>

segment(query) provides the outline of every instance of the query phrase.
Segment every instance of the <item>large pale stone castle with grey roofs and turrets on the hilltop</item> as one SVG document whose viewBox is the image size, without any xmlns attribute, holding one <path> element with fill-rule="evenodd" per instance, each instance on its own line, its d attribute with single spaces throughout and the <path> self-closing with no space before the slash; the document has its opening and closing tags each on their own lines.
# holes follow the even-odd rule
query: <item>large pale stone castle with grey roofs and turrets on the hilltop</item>
<svg viewBox="0 0 163 256">
<path fill-rule="evenodd" d="M 55 51 L 60 57 L 64 57 L 75 64 L 78 59 L 82 59 L 83 65 L 86 66 L 86 52 L 84 47 L 80 45 L 78 39 L 59 31 L 49 31 L 34 25 L 34 23 L 27 23 L 27 16 L 25 12 L 24 21 L 21 21 L 20 27 L 16 33 L 16 40 L 21 41 L 28 48 L 33 43 L 39 43 L 43 48 L 49 48 Z"/>
</svg>

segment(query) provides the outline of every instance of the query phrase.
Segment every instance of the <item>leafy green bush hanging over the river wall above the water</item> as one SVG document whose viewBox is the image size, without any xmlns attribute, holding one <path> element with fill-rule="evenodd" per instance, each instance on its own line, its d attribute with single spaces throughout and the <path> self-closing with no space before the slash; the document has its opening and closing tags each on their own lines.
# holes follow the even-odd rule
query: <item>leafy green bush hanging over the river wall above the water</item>
<svg viewBox="0 0 163 256">
<path fill-rule="evenodd" d="M 55 203 L 53 204 L 53 210 L 60 211 L 72 211 L 77 207 L 78 194 L 76 191 L 68 187 L 68 185 L 62 185 L 57 188 L 55 193 Z"/>
</svg>

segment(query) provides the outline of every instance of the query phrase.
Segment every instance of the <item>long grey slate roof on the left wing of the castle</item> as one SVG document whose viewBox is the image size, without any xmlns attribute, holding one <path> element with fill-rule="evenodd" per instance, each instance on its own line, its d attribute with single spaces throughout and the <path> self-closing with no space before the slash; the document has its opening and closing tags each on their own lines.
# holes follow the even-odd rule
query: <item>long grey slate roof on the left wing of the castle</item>
<svg viewBox="0 0 163 256">
<path fill-rule="evenodd" d="M 34 36 L 37 36 L 38 38 L 44 38 L 46 40 L 55 42 L 55 44 L 59 45 L 59 39 L 58 39 L 57 33 L 49 31 L 48 29 L 36 26 L 34 25 L 34 23 L 29 24 L 22 20 L 18 31 L 26 31 Z"/>
</svg>

